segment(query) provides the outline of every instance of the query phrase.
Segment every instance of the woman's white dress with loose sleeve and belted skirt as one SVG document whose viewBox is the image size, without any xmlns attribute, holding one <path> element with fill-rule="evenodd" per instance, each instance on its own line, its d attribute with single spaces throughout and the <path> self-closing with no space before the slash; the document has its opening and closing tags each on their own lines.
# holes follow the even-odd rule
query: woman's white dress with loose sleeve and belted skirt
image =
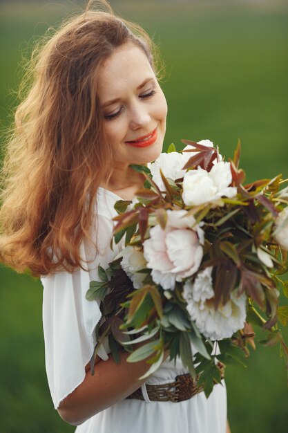
<svg viewBox="0 0 288 433">
<path fill-rule="evenodd" d="M 97 236 L 98 255 L 95 248 L 84 242 L 81 257 L 93 260 L 88 272 L 61 271 L 42 277 L 44 286 L 43 322 L 45 339 L 46 371 L 50 393 L 55 409 L 85 377 L 85 366 L 95 347 L 95 326 L 101 318 L 97 302 L 86 300 L 90 280 L 97 280 L 97 266 L 103 268 L 121 250 L 121 245 L 110 242 L 113 233 L 112 218 L 115 201 L 119 196 L 99 188 L 97 193 L 97 218 L 94 236 Z M 96 212 L 96 210 L 95 210 Z M 109 348 L 107 341 L 99 350 L 106 360 Z M 97 365 L 95 366 L 97 369 Z M 185 374 L 180 360 L 166 360 L 148 378 L 146 383 L 169 383 L 179 374 Z M 142 389 L 145 394 L 145 385 Z M 225 433 L 227 423 L 227 394 L 224 380 L 215 385 L 209 398 L 204 392 L 181 403 L 149 402 L 128 399 L 109 407 L 77 427 L 77 433 Z"/>
</svg>

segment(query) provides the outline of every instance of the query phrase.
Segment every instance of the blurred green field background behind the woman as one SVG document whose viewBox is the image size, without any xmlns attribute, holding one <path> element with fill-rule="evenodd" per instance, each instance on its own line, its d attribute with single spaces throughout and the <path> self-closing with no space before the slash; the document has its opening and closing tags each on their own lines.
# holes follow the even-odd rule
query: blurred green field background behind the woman
<svg viewBox="0 0 288 433">
<path fill-rule="evenodd" d="M 83 4 L 0 1 L 2 140 L 17 104 L 21 58 L 35 38 Z M 169 105 L 165 146 L 182 149 L 181 138 L 209 138 L 228 157 L 240 138 L 248 180 L 288 177 L 287 2 L 111 4 L 160 43 Z M 0 266 L 0 288 L 0 431 L 73 432 L 53 409 L 46 382 L 41 284 Z M 278 347 L 258 347 L 247 365 L 227 369 L 232 433 L 287 432 L 287 372 Z"/>
</svg>

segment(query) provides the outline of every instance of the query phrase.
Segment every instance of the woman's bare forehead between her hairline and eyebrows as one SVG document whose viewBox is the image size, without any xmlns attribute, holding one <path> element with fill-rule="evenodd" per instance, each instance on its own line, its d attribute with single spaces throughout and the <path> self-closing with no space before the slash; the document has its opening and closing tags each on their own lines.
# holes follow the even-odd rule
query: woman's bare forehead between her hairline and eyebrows
<svg viewBox="0 0 288 433">
<path fill-rule="evenodd" d="M 124 44 L 116 48 L 99 68 L 97 93 L 101 102 L 115 98 L 129 89 L 137 87 L 155 74 L 146 54 L 135 44 Z"/>
</svg>

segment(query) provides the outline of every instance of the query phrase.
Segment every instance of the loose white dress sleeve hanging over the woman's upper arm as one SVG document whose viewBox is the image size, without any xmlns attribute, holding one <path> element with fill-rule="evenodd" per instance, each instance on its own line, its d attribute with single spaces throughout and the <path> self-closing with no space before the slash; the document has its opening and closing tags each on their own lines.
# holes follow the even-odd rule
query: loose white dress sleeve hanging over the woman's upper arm
<svg viewBox="0 0 288 433">
<path fill-rule="evenodd" d="M 46 371 L 50 393 L 55 406 L 83 382 L 85 366 L 96 344 L 95 326 L 101 320 L 99 302 L 86 300 L 91 280 L 99 280 L 97 267 L 103 268 L 117 254 L 117 246 L 110 248 L 113 222 L 97 216 L 97 256 L 95 247 L 88 241 L 81 244 L 81 258 L 88 271 L 68 273 L 61 270 L 41 277 L 44 286 L 43 324 Z M 93 260 L 87 264 L 88 260 Z M 100 347 L 98 355 L 108 359 L 108 340 Z"/>
</svg>

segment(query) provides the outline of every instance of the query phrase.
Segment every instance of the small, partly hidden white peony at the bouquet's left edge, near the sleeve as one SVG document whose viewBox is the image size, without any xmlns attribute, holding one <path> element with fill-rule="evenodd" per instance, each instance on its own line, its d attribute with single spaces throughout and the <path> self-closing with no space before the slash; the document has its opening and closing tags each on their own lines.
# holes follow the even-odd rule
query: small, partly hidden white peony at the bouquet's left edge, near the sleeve
<svg viewBox="0 0 288 433">
<path fill-rule="evenodd" d="M 144 259 L 143 252 L 135 250 L 133 246 L 126 246 L 126 248 L 122 250 L 122 256 L 122 269 L 133 282 L 133 286 L 135 288 L 141 288 L 146 274 L 137 273 L 137 271 L 146 268 L 146 260 Z"/>
</svg>

